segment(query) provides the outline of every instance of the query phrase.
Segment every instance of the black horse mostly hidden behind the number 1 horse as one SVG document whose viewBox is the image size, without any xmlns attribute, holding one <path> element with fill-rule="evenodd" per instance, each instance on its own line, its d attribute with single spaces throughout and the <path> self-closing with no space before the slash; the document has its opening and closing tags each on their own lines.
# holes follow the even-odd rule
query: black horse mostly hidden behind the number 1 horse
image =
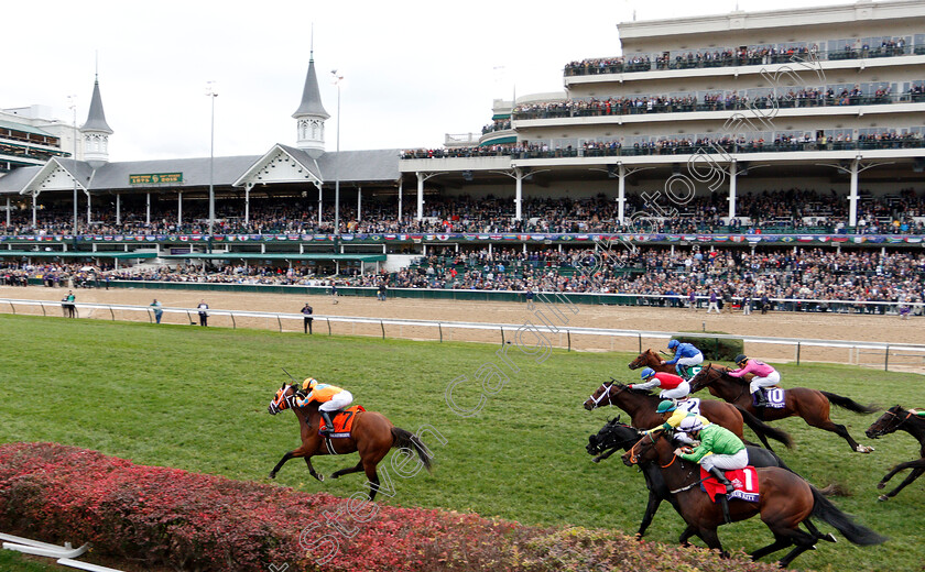
<svg viewBox="0 0 925 572">
<path fill-rule="evenodd" d="M 618 416 L 617 419 L 607 421 L 597 435 L 588 437 L 588 444 L 585 450 L 588 451 L 588 454 L 597 455 L 594 462 L 598 463 L 620 449 L 629 451 L 639 441 L 640 437 L 639 429 L 620 422 L 620 417 Z M 746 447 L 746 449 L 749 451 L 749 464 L 752 466 L 780 466 L 781 469 L 792 471 L 773 451 L 751 446 Z M 663 501 L 671 503 L 674 509 L 681 514 L 677 499 L 670 493 L 659 468 L 654 464 L 645 464 L 642 466 L 642 474 L 645 477 L 645 487 L 649 490 L 649 503 L 645 506 L 642 522 L 639 525 L 639 531 L 636 532 L 638 539 L 642 539 Z M 684 544 L 694 534 L 696 534 L 695 529 L 688 526 L 682 532 L 678 541 Z"/>
</svg>

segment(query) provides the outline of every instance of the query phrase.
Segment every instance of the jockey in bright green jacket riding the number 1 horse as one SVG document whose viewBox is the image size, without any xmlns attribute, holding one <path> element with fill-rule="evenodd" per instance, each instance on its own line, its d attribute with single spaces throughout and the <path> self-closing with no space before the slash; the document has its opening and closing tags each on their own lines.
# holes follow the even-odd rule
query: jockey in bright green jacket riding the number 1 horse
<svg viewBox="0 0 925 572">
<path fill-rule="evenodd" d="M 700 444 L 693 449 L 677 448 L 675 454 L 685 461 L 700 463 L 705 471 L 715 476 L 720 484 L 726 485 L 726 494 L 734 491 L 732 483 L 726 479 L 722 471 L 744 469 L 749 464 L 749 452 L 742 440 L 725 427 L 716 424 L 704 425 L 693 416 L 685 417 L 678 430 L 699 440 Z"/>
</svg>

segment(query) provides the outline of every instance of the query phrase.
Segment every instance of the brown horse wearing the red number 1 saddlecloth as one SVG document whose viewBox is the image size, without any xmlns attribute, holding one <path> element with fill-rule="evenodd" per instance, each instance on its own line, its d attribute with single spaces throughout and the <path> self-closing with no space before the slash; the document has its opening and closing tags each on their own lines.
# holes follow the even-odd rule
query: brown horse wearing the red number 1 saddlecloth
<svg viewBox="0 0 925 572">
<path fill-rule="evenodd" d="M 700 465 L 685 461 L 674 454 L 675 446 L 664 432 L 650 433 L 633 444 L 621 457 L 627 466 L 634 464 L 657 465 L 684 521 L 693 527 L 695 534 L 704 539 L 707 547 L 722 550 L 717 528 L 725 522 L 720 503 L 710 501 L 707 493 L 700 491 Z M 732 521 L 746 520 L 760 515 L 761 520 L 771 529 L 774 541 L 750 553 L 752 560 L 794 546 L 779 563 L 788 565 L 793 559 L 813 550 L 819 540 L 834 541 L 835 538 L 819 534 L 808 525 L 809 517 L 828 522 L 845 538 L 859 546 L 879 544 L 886 538 L 873 530 L 855 522 L 818 488 L 804 481 L 796 473 L 776 466 L 755 469 L 759 483 L 759 501 L 751 503 L 738 498 L 729 499 L 729 515 Z M 799 528 L 806 525 L 809 532 Z"/>
</svg>

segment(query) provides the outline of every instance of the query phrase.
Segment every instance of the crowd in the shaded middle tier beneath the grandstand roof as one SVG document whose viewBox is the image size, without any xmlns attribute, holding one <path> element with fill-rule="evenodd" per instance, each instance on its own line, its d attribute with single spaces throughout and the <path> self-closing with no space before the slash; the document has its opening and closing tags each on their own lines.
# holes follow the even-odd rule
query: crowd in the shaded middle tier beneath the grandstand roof
<svg viewBox="0 0 925 572">
<path fill-rule="evenodd" d="M 740 193 L 737 196 L 737 217 L 729 219 L 728 195 L 717 191 L 695 197 L 686 205 L 672 205 L 677 216 L 656 218 L 644 223 L 644 230 L 664 233 L 686 232 L 845 232 L 848 223 L 849 205 L 845 195 L 835 191 L 818 193 L 813 189 L 792 188 L 765 190 L 759 194 Z M 78 234 L 206 234 L 207 212 L 192 204 L 184 207 L 183 223 L 176 222 L 176 210 L 171 211 L 165 202 L 152 209 L 151 223 L 143 209 L 123 209 L 120 223 L 115 212 L 94 212 L 89 227 L 81 217 Z M 333 231 L 334 206 L 326 205 L 323 223 L 318 224 L 317 202 L 280 200 L 251 201 L 250 217 L 243 220 L 242 200 L 219 200 L 216 204 L 217 220 L 215 234 L 280 234 L 280 233 L 327 233 Z M 402 220 L 398 218 L 398 206 L 392 202 L 367 200 L 362 218 L 357 220 L 357 206 L 352 201 L 340 207 L 340 231 L 342 233 L 398 233 L 398 232 L 638 232 L 639 227 L 629 228 L 619 223 L 619 208 L 613 197 L 599 195 L 583 199 L 525 198 L 522 220 L 514 220 L 514 204 L 498 197 L 428 197 L 424 220 L 416 220 L 416 205 L 407 201 L 403 206 Z M 37 217 L 37 229 L 33 229 L 30 210 L 13 211 L 10 224 L 0 218 L 2 234 L 70 234 L 73 215 L 69 209 L 43 209 Z M 639 194 L 628 194 L 624 217 L 638 212 L 655 215 L 652 205 Z M 925 218 L 925 195 L 914 188 L 903 189 L 896 195 L 873 197 L 861 191 L 858 205 L 859 233 L 908 234 L 925 233 L 921 222 Z"/>
</svg>

